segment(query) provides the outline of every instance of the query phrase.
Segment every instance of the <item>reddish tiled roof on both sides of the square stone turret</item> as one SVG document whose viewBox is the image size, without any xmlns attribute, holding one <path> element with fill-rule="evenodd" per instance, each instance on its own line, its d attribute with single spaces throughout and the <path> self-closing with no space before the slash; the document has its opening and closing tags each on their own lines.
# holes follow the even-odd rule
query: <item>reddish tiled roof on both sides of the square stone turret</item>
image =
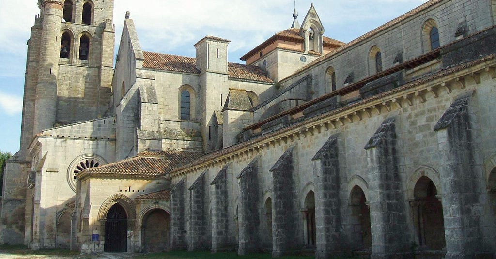
<svg viewBox="0 0 496 259">
<path fill-rule="evenodd" d="M 145 59 L 143 60 L 144 68 L 152 68 L 180 73 L 200 73 L 200 70 L 196 68 L 195 58 L 146 51 L 143 52 L 143 55 L 145 57 Z M 227 67 L 230 78 L 267 83 L 274 82 L 267 77 L 266 72 L 255 65 L 228 63 Z"/>
</svg>

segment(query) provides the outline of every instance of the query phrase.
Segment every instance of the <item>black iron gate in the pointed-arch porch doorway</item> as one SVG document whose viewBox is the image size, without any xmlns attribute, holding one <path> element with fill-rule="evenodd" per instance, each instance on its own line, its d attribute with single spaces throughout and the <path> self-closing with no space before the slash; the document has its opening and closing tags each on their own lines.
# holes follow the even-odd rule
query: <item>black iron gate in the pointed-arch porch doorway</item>
<svg viewBox="0 0 496 259">
<path fill-rule="evenodd" d="M 113 205 L 107 213 L 105 252 L 127 252 L 127 215 L 119 203 Z"/>
</svg>

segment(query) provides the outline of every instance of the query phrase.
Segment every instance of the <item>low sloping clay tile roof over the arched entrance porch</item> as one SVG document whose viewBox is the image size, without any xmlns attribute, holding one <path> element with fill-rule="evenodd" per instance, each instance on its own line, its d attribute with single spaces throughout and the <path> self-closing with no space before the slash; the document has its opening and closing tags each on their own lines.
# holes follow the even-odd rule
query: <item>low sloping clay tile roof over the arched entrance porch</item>
<svg viewBox="0 0 496 259">
<path fill-rule="evenodd" d="M 200 152 L 178 150 L 144 151 L 135 157 L 100 167 L 93 167 L 86 170 L 85 173 L 141 176 L 165 175 L 201 156 L 203 156 L 203 153 Z"/>
</svg>

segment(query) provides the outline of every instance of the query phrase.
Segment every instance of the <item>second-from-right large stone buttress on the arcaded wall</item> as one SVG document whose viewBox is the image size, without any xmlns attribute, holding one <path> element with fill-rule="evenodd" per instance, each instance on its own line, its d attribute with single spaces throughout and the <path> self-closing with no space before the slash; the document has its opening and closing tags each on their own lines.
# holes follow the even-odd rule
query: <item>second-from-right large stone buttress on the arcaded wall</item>
<svg viewBox="0 0 496 259">
<path fill-rule="evenodd" d="M 386 119 L 367 149 L 372 259 L 408 257 L 410 240 L 402 179 L 396 153 L 395 119 Z"/>
</svg>

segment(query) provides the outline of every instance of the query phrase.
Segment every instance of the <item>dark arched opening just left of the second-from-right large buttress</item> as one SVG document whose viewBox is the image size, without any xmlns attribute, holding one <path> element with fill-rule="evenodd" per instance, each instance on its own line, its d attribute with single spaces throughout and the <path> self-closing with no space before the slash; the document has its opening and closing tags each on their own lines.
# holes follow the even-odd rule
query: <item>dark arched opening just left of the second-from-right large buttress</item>
<svg viewBox="0 0 496 259">
<path fill-rule="evenodd" d="M 371 211 L 364 191 L 353 187 L 350 194 L 352 243 L 356 250 L 369 250 L 372 247 Z"/>
</svg>

